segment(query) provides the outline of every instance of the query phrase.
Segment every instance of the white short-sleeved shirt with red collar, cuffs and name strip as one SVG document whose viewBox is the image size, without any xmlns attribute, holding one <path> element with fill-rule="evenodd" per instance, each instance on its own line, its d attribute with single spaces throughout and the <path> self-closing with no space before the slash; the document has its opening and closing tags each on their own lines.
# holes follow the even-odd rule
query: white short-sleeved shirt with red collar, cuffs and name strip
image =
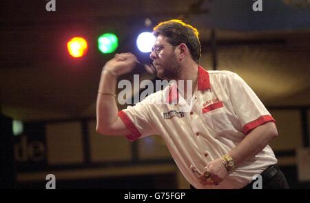
<svg viewBox="0 0 310 203">
<path fill-rule="evenodd" d="M 130 141 L 161 135 L 181 173 L 196 189 L 240 189 L 252 181 L 253 175 L 277 163 L 272 149 L 266 146 L 229 171 L 218 186 L 200 184 L 191 166 L 202 174 L 208 162 L 231 151 L 251 130 L 275 120 L 234 72 L 207 71 L 199 66 L 198 91 L 189 104 L 174 88 L 167 86 L 118 112 L 132 133 L 126 136 Z M 162 102 L 175 99 L 178 104 Z"/>
</svg>

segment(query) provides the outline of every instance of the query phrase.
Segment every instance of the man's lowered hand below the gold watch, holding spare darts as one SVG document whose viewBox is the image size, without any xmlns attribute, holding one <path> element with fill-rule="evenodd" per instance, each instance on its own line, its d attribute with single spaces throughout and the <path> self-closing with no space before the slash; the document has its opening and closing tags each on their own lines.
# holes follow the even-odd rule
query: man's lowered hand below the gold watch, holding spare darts
<svg viewBox="0 0 310 203">
<path fill-rule="evenodd" d="M 205 167 L 205 171 L 209 172 L 209 176 L 205 177 L 203 174 L 199 177 L 199 180 L 203 185 L 219 184 L 227 176 L 227 170 L 220 159 L 209 162 Z"/>
</svg>

